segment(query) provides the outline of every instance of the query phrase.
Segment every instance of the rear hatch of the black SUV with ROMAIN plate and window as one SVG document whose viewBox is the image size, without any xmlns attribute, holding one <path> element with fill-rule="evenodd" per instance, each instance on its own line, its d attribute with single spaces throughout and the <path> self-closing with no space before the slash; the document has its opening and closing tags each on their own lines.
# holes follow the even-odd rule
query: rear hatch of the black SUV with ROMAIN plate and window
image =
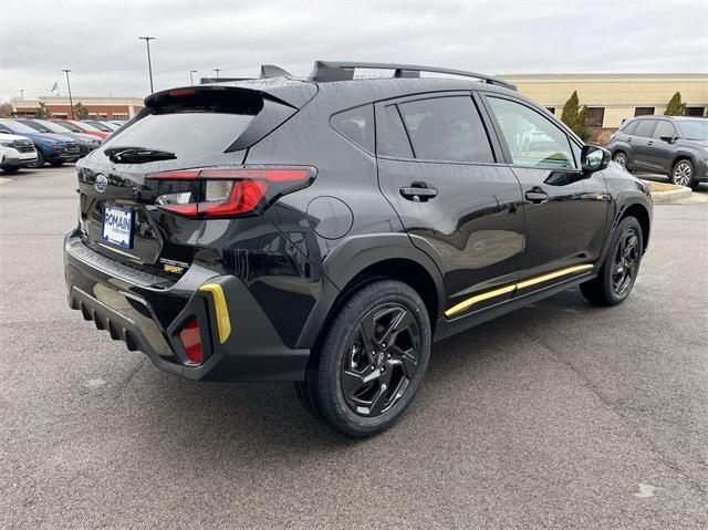
<svg viewBox="0 0 708 530">
<path fill-rule="evenodd" d="M 184 274 L 209 221 L 199 215 L 180 215 L 180 206 L 165 205 L 189 202 L 190 197 L 220 189 L 207 190 L 205 181 L 184 178 L 190 173 L 185 169 L 240 166 L 250 145 L 292 116 L 298 111 L 294 104 L 309 101 L 287 102 L 252 85 L 205 85 L 153 94 L 132 123 L 81 160 L 84 243 L 167 279 Z M 176 177 L 164 178 L 169 175 Z"/>
</svg>

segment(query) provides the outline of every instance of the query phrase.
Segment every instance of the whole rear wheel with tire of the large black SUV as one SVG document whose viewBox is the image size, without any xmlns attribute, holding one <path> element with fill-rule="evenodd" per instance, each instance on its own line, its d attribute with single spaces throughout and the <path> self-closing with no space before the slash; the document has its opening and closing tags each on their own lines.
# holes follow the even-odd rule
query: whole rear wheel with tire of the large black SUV
<svg viewBox="0 0 708 530">
<path fill-rule="evenodd" d="M 428 312 L 413 288 L 395 280 L 365 284 L 331 319 L 301 399 L 340 433 L 378 434 L 410 405 L 428 366 L 430 340 Z"/>
</svg>

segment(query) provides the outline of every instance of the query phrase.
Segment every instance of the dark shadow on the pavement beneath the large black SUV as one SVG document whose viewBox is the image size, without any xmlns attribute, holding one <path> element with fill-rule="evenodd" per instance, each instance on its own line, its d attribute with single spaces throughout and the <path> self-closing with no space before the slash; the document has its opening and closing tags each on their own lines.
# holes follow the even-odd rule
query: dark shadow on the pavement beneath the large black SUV
<svg viewBox="0 0 708 530">
<path fill-rule="evenodd" d="M 586 309 L 580 292 L 569 291 L 434 344 L 420 395 L 399 426 L 420 427 L 417 422 L 428 408 L 435 408 L 435 399 L 456 398 L 458 383 L 475 385 L 477 377 L 493 376 L 509 357 L 524 355 L 529 332 L 542 321 L 553 319 L 562 325 L 564 320 L 577 321 L 581 318 L 577 313 Z M 450 384 L 451 381 L 457 383 Z M 312 417 L 301 405 L 293 383 L 192 382 L 159 372 L 145 360 L 121 386 L 124 394 L 121 402 L 140 403 L 127 407 L 138 416 L 135 418 L 138 425 L 145 423 L 145 428 L 137 425 L 134 428 L 147 430 L 147 445 L 158 451 L 180 451 L 185 447 L 212 450 L 226 446 L 258 449 L 258 455 L 238 450 L 232 455 L 235 458 L 237 454 L 261 458 L 271 451 L 273 457 L 282 450 L 326 453 L 362 443 L 333 433 Z M 158 437 L 154 426 L 159 426 Z M 394 427 L 363 443 L 396 439 L 409 428 Z"/>
</svg>

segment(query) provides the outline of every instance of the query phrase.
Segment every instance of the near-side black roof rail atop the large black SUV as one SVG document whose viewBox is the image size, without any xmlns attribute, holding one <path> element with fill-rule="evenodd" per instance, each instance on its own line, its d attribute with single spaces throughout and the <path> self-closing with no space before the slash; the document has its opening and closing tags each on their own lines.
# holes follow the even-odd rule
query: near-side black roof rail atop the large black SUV
<svg viewBox="0 0 708 530">
<path fill-rule="evenodd" d="M 439 74 L 460 75 L 464 77 L 475 77 L 485 83 L 503 86 L 516 91 L 517 86 L 507 81 L 493 77 L 491 75 L 480 74 L 477 72 L 467 72 L 465 70 L 441 69 L 437 66 L 419 66 L 415 64 L 397 64 L 397 63 L 362 63 L 362 62 L 343 62 L 343 61 L 315 61 L 312 72 L 308 81 L 320 83 L 329 83 L 333 81 L 351 81 L 354 79 L 354 70 L 394 70 L 394 77 L 419 77 L 420 72 L 431 72 Z"/>
</svg>

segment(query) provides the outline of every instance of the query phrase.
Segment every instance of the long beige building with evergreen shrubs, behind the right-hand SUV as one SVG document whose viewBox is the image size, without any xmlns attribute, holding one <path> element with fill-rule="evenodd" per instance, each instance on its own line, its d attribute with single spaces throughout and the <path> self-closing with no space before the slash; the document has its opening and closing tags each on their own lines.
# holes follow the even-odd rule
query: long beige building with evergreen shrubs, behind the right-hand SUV
<svg viewBox="0 0 708 530">
<path fill-rule="evenodd" d="M 608 135 L 624 118 L 664 114 L 676 91 L 681 93 L 687 115 L 705 116 L 708 108 L 707 74 L 520 74 L 501 77 L 514 83 L 519 92 L 559 117 L 568 98 L 577 91 L 580 104 L 589 107 L 587 125 L 594 129 L 594 139 Z"/>
</svg>

